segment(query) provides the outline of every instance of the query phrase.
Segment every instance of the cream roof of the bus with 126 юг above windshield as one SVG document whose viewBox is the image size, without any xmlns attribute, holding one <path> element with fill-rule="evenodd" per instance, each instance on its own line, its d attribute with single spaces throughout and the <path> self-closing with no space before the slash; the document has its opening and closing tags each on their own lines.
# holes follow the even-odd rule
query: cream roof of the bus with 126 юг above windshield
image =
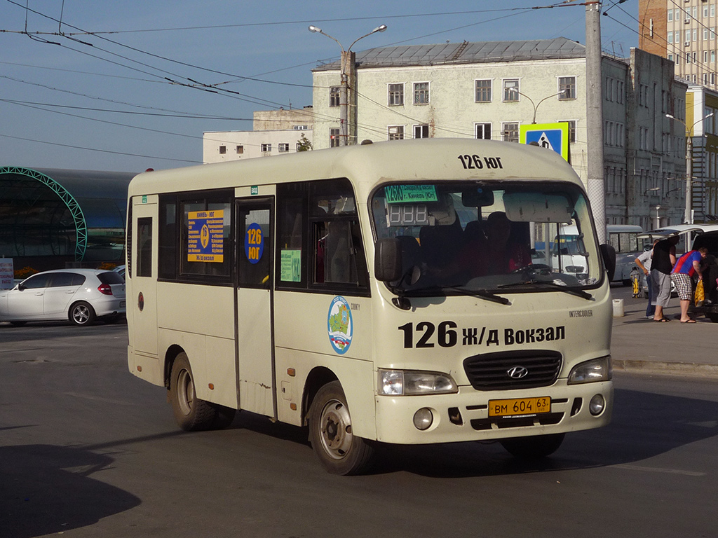
<svg viewBox="0 0 718 538">
<path fill-rule="evenodd" d="M 472 138 L 424 138 L 143 172 L 131 181 L 129 196 L 338 177 L 352 180 L 363 197 L 386 181 L 544 179 L 582 187 L 555 151 Z"/>
</svg>

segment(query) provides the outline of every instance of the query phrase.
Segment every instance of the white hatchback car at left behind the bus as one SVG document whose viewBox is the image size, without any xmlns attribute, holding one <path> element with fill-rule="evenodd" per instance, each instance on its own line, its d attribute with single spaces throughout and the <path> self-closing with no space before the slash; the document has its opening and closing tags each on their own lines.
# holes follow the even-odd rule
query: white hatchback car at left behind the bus
<svg viewBox="0 0 718 538">
<path fill-rule="evenodd" d="M 0 290 L 0 321 L 14 325 L 63 319 L 88 325 L 101 316 L 113 321 L 125 311 L 125 281 L 113 271 L 45 271 Z"/>
</svg>

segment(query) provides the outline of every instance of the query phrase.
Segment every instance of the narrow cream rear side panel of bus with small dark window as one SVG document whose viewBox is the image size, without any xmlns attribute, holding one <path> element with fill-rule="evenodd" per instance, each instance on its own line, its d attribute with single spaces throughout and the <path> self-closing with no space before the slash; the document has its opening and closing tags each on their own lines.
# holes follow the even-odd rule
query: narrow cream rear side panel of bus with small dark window
<svg viewBox="0 0 718 538">
<path fill-rule="evenodd" d="M 133 197 L 127 290 L 127 323 L 135 352 L 157 356 L 157 203 Z"/>
</svg>

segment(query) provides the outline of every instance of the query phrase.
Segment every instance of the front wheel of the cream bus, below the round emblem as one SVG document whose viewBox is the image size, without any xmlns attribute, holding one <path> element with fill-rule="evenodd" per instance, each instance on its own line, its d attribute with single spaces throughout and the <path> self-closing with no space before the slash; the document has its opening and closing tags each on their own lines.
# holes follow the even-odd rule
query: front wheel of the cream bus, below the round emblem
<svg viewBox="0 0 718 538">
<path fill-rule="evenodd" d="M 309 409 L 309 441 L 322 466 L 332 474 L 368 471 L 375 450 L 353 435 L 347 399 L 338 381 L 325 384 Z"/>
</svg>

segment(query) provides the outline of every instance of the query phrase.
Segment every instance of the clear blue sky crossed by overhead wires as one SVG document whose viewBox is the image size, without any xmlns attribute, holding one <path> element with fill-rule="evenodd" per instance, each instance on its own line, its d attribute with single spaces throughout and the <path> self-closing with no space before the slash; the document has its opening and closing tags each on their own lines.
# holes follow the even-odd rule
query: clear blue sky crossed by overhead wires
<svg viewBox="0 0 718 538">
<path fill-rule="evenodd" d="M 606 0 L 602 9 L 603 48 L 628 56 L 638 46 L 638 0 Z M 309 24 L 345 47 L 388 26 L 357 52 L 464 40 L 585 43 L 585 7 L 561 0 L 0 0 L 0 166 L 200 163 L 204 131 L 249 130 L 254 110 L 312 104 L 312 67 L 340 48 Z"/>
</svg>

